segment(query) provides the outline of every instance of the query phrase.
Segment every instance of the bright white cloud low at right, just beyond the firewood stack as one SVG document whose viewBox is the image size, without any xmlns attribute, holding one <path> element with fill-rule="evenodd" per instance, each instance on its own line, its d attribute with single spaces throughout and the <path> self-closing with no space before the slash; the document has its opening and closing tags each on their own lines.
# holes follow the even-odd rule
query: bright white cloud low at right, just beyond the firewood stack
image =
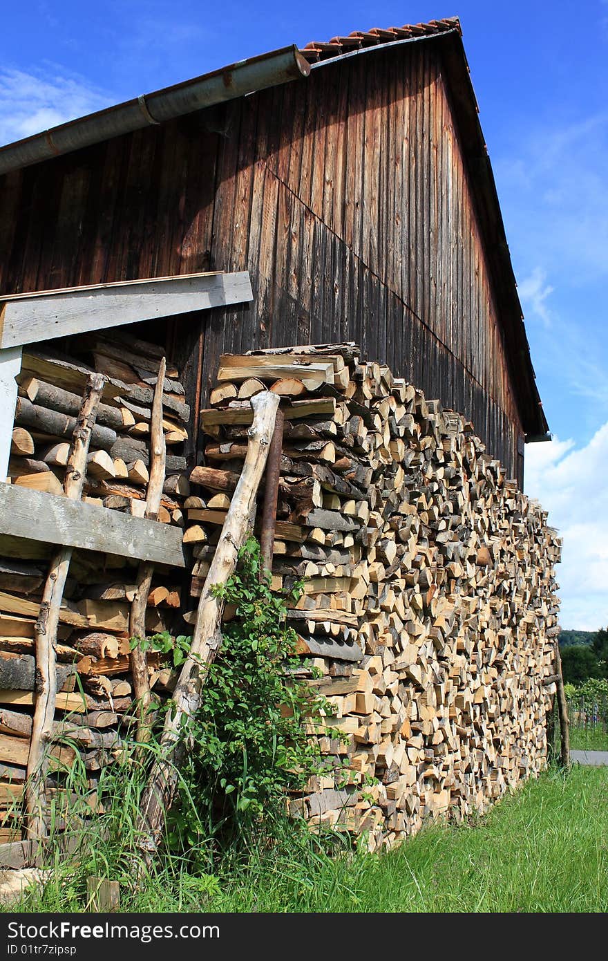
<svg viewBox="0 0 608 961">
<path fill-rule="evenodd" d="M 584 447 L 572 440 L 525 449 L 524 489 L 548 511 L 563 538 L 560 583 L 563 628 L 608 625 L 608 423 Z"/>
</svg>

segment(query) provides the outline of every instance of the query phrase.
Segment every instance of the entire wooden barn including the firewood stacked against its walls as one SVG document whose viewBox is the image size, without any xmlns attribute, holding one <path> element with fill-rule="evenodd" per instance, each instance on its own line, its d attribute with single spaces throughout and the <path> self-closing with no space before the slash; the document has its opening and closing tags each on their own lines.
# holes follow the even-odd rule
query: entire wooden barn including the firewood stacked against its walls
<svg viewBox="0 0 608 961">
<path fill-rule="evenodd" d="M 376 848 L 547 764 L 559 541 L 522 489 L 547 421 L 457 19 L 0 148 L 0 393 L 0 865 L 153 695 L 177 750 L 198 662 L 132 642 L 213 659 L 269 444 L 255 530 L 276 589 L 305 578 L 287 621 L 340 734 L 292 813 Z"/>
</svg>

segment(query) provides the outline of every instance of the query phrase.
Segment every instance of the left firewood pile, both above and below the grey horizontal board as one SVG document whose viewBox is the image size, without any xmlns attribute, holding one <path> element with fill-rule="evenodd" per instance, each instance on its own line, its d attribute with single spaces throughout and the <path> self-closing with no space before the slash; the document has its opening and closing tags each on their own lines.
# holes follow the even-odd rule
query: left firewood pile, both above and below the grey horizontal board
<svg viewBox="0 0 608 961">
<path fill-rule="evenodd" d="M 163 354 L 158 345 L 121 330 L 112 332 L 112 339 L 79 335 L 43 349 L 28 347 L 18 378 L 7 480 L 61 495 L 85 383 L 97 370 L 108 382 L 91 435 L 84 500 L 143 517 L 151 407 Z M 189 408 L 175 369 L 167 369 L 162 400 L 167 456 L 158 520 L 182 527 L 189 494 L 182 456 Z M 0 841 L 20 837 L 18 805 L 36 697 L 35 625 L 53 550 L 0 536 Z M 129 617 L 136 579 L 137 567 L 125 557 L 73 554 L 61 607 L 51 765 L 56 770 L 49 780 L 49 796 L 67 807 L 64 785 L 76 761 L 94 791 L 102 767 L 120 757 L 131 731 Z M 148 633 L 180 632 L 181 599 L 182 572 L 158 567 L 148 597 Z M 153 690 L 165 692 L 170 672 L 158 654 L 149 657 L 149 673 Z"/>
</svg>

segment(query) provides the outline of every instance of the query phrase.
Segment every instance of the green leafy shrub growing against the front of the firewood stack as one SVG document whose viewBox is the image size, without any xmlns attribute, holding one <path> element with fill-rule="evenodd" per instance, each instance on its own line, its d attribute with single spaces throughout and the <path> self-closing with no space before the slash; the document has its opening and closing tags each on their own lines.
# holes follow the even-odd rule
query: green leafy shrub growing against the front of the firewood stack
<svg viewBox="0 0 608 961">
<path fill-rule="evenodd" d="M 300 596 L 302 585 L 290 592 Z M 259 545 L 251 537 L 236 572 L 212 588 L 231 604 L 221 652 L 208 666 L 201 703 L 185 719 L 183 782 L 197 814 L 182 798 L 171 813 L 173 848 L 199 844 L 202 835 L 244 838 L 285 810 L 285 795 L 321 773 L 311 733 L 333 713 L 303 678 L 297 635 L 286 623 L 287 597 L 271 590 L 262 573 Z"/>
</svg>

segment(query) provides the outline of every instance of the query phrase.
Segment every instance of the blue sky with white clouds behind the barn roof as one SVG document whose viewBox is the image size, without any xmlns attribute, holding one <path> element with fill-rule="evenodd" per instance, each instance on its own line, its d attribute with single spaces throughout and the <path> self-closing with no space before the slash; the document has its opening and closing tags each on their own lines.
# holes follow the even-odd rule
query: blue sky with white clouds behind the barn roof
<svg viewBox="0 0 608 961">
<path fill-rule="evenodd" d="M 608 624 L 608 0 L 5 4 L 0 142 L 287 43 L 457 14 L 551 444 L 562 623 Z"/>
</svg>

